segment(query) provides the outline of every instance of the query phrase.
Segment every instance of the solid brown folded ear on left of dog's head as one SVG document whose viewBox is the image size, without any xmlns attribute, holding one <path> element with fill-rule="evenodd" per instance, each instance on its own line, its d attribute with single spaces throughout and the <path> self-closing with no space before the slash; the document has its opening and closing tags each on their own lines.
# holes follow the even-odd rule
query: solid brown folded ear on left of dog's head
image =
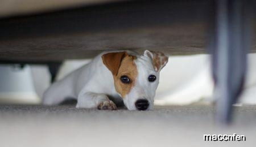
<svg viewBox="0 0 256 147">
<path fill-rule="evenodd" d="M 115 76 L 119 70 L 122 59 L 125 58 L 128 54 L 126 51 L 107 53 L 101 56 L 105 66 L 112 72 Z"/>
</svg>

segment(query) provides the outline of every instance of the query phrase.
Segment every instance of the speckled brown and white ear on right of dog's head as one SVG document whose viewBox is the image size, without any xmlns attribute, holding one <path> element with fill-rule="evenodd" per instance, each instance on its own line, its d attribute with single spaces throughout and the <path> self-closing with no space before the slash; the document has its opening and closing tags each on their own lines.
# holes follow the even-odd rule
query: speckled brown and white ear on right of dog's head
<svg viewBox="0 0 256 147">
<path fill-rule="evenodd" d="M 152 59 L 152 64 L 156 72 L 162 70 L 162 68 L 166 66 L 166 63 L 168 62 L 168 57 L 160 51 L 145 50 L 144 56 Z"/>
</svg>

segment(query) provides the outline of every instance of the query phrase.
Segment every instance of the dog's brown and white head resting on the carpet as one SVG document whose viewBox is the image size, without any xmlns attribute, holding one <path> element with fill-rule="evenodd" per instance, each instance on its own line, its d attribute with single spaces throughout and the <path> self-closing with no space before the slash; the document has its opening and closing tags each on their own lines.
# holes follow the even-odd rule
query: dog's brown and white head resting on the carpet
<svg viewBox="0 0 256 147">
<path fill-rule="evenodd" d="M 112 72 L 115 90 L 129 110 L 151 110 L 159 72 L 168 62 L 163 53 L 145 50 L 141 56 L 126 51 L 102 55 L 102 61 Z"/>
</svg>

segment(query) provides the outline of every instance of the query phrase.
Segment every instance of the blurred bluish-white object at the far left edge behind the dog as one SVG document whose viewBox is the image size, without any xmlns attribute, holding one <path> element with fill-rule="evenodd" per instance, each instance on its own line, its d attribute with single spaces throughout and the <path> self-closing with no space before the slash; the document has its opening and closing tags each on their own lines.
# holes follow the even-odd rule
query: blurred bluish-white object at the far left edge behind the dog
<svg viewBox="0 0 256 147">
<path fill-rule="evenodd" d="M 0 103 L 40 103 L 29 66 L 1 65 L 0 73 Z"/>
</svg>

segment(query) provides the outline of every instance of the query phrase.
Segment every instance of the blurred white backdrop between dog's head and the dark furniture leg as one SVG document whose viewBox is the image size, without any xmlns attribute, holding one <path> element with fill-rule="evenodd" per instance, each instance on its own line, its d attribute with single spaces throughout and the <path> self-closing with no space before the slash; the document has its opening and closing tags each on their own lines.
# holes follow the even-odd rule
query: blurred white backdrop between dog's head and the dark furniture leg
<svg viewBox="0 0 256 147">
<path fill-rule="evenodd" d="M 169 57 L 160 72 L 155 105 L 188 105 L 213 93 L 209 55 Z"/>
</svg>

